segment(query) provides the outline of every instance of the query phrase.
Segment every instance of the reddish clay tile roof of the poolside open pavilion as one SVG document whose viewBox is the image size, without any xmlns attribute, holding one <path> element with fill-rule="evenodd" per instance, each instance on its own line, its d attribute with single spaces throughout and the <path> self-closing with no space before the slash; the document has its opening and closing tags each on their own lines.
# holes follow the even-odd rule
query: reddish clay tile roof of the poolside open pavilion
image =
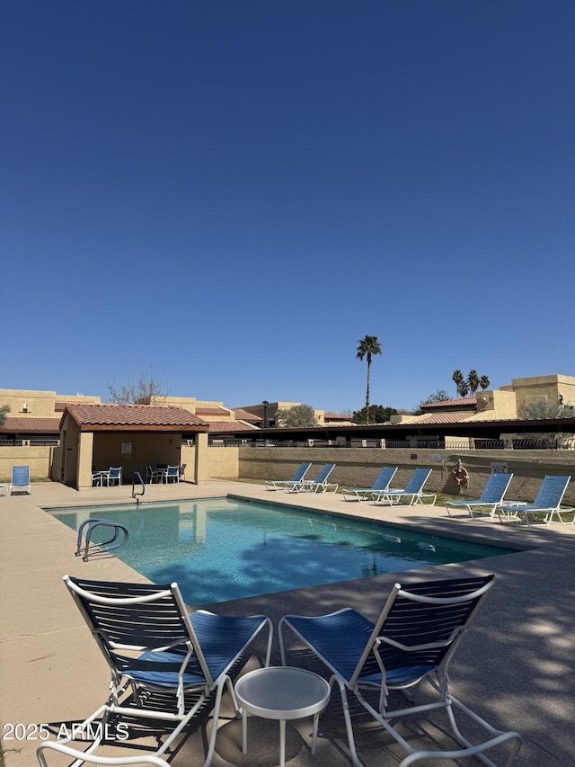
<svg viewBox="0 0 575 767">
<path fill-rule="evenodd" d="M 66 413 L 83 432 L 144 431 L 207 432 L 208 424 L 183 407 L 171 405 L 119 405 L 116 403 L 77 403 L 66 406 Z"/>
</svg>

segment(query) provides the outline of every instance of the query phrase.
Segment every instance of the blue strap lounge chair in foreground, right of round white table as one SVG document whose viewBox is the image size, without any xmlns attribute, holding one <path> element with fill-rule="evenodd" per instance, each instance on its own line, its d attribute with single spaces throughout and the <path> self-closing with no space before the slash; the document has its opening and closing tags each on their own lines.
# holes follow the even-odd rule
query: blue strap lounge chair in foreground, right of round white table
<svg viewBox="0 0 575 767">
<path fill-rule="evenodd" d="M 507 744 L 506 750 L 510 751 L 506 767 L 513 762 L 521 737 L 516 732 L 491 727 L 454 698 L 449 689 L 450 661 L 494 584 L 494 575 L 412 584 L 405 588 L 395 584 L 376 623 L 352 608 L 314 618 L 286 615 L 279 621 L 282 663 L 286 665 L 287 661 L 284 630 L 290 629 L 330 670 L 330 684 L 337 683 L 340 688 L 351 762 L 355 767 L 362 767 L 362 763 L 356 750 L 348 693 L 408 753 L 399 767 L 407 767 L 423 758 L 451 759 L 459 763 L 460 757 L 475 754 L 483 763 L 494 767 L 485 752 L 502 744 Z M 410 693 L 414 685 L 424 680 L 432 688 L 432 700 L 428 696 L 420 705 L 388 709 L 389 691 Z M 364 697 L 364 691 L 372 691 L 372 694 Z M 401 722 L 405 717 L 437 709 L 447 712 L 461 749 L 420 751 L 407 742 L 405 730 L 400 734 L 395 728 L 394 720 Z M 462 735 L 456 713 L 467 715 L 472 723 L 481 726 L 488 739 L 473 745 Z"/>
</svg>

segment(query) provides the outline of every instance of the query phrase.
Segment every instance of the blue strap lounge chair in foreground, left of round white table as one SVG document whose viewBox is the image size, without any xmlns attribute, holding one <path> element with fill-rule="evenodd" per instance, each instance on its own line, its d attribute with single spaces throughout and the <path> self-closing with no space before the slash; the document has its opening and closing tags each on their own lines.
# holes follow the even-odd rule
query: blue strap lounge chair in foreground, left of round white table
<svg viewBox="0 0 575 767">
<path fill-rule="evenodd" d="M 270 664 L 271 623 L 264 615 L 235 618 L 197 610 L 188 614 L 177 584 L 126 584 L 64 577 L 88 628 L 111 670 L 108 700 L 69 738 L 44 741 L 36 751 L 41 767 L 48 767 L 49 751 L 84 763 L 155 764 L 169 767 L 168 750 L 174 739 L 200 711 L 213 708 L 213 726 L 204 767 L 212 761 L 217 718 L 225 689 L 239 715 L 230 673 L 239 672 L 252 652 L 253 640 L 267 628 L 265 664 Z M 143 736 L 146 722 L 156 738 L 155 751 L 134 755 L 137 745 L 127 741 L 128 755 L 104 757 L 100 749 L 106 729 L 119 733 L 134 728 Z M 92 727 L 94 720 L 102 727 Z M 159 722 L 169 733 L 162 741 Z M 137 724 L 136 724 L 137 723 Z M 94 731 L 95 730 L 95 731 Z M 83 748 L 69 745 L 74 738 Z M 109 736 L 110 737 L 110 736 Z M 92 744 L 85 749 L 86 741 Z M 114 749 L 122 745 L 116 737 Z M 84 753 L 85 749 L 85 753 Z M 172 758 L 170 758 L 172 761 Z"/>
</svg>

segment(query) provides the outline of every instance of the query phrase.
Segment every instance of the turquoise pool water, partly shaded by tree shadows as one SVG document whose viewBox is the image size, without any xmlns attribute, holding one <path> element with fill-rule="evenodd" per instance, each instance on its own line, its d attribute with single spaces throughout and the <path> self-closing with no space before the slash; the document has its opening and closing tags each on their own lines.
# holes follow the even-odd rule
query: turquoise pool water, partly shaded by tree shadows
<svg viewBox="0 0 575 767">
<path fill-rule="evenodd" d="M 73 530 L 89 518 L 125 525 L 128 543 L 114 555 L 156 584 L 177 581 L 190 605 L 510 553 L 507 548 L 225 498 L 50 513 Z M 110 537 L 108 529 L 99 540 Z"/>
</svg>

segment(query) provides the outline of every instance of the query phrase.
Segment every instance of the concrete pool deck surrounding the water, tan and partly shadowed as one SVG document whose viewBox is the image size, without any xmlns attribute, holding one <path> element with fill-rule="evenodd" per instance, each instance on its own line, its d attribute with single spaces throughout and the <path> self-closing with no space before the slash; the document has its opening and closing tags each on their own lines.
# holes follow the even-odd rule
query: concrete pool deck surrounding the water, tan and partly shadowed
<svg viewBox="0 0 575 767">
<path fill-rule="evenodd" d="M 573 652 L 575 636 L 575 525 L 550 528 L 501 525 L 498 520 L 450 518 L 442 506 L 375 506 L 346 502 L 341 495 L 270 493 L 261 485 L 211 480 L 146 486 L 146 501 L 239 495 L 267 502 L 305 506 L 318 512 L 344 513 L 361 519 L 385 520 L 418 527 L 432 534 L 526 548 L 504 557 L 455 565 L 433 566 L 401 575 L 376 575 L 338 584 L 268 594 L 208 608 L 227 614 L 265 613 L 278 625 L 286 613 L 319 614 L 353 606 L 376 618 L 399 580 L 409 584 L 426 578 L 460 574 L 500 575 L 460 647 L 452 666 L 452 689 L 464 702 L 501 729 L 524 737 L 517 767 L 553 767 L 575 763 L 571 713 L 575 705 Z M 0 723 L 5 767 L 36 764 L 34 733 L 9 740 L 10 725 L 82 721 L 104 702 L 109 673 L 80 613 L 66 592 L 62 575 L 105 580 L 146 579 L 114 557 L 83 562 L 75 557 L 75 531 L 43 511 L 45 507 L 132 503 L 131 486 L 75 491 L 57 483 L 35 483 L 32 495 L 0 496 Z M 204 605 L 206 606 L 206 605 Z M 277 637 L 272 664 L 279 664 Z M 349 765 L 343 722 L 332 715 L 322 723 L 315 756 L 309 752 L 311 721 L 288 723 L 286 759 L 291 767 Z M 214 767 L 273 767 L 278 763 L 279 733 L 275 722 L 250 720 L 248 753 L 241 753 L 240 722 L 224 708 Z M 446 742 L 445 720 L 407 719 L 408 740 L 437 748 Z M 203 728 L 194 730 L 174 754 L 174 767 L 199 767 L 204 761 Z M 394 765 L 405 755 L 394 741 L 373 727 L 360 728 L 358 754 L 366 767 Z M 134 755 L 132 752 L 131 755 Z M 56 760 L 51 763 L 60 764 Z M 434 762 L 426 762 L 426 764 Z M 476 763 L 468 759 L 464 764 Z M 445 761 L 441 764 L 446 764 Z M 439 765 L 439 762 L 438 762 Z"/>
</svg>

